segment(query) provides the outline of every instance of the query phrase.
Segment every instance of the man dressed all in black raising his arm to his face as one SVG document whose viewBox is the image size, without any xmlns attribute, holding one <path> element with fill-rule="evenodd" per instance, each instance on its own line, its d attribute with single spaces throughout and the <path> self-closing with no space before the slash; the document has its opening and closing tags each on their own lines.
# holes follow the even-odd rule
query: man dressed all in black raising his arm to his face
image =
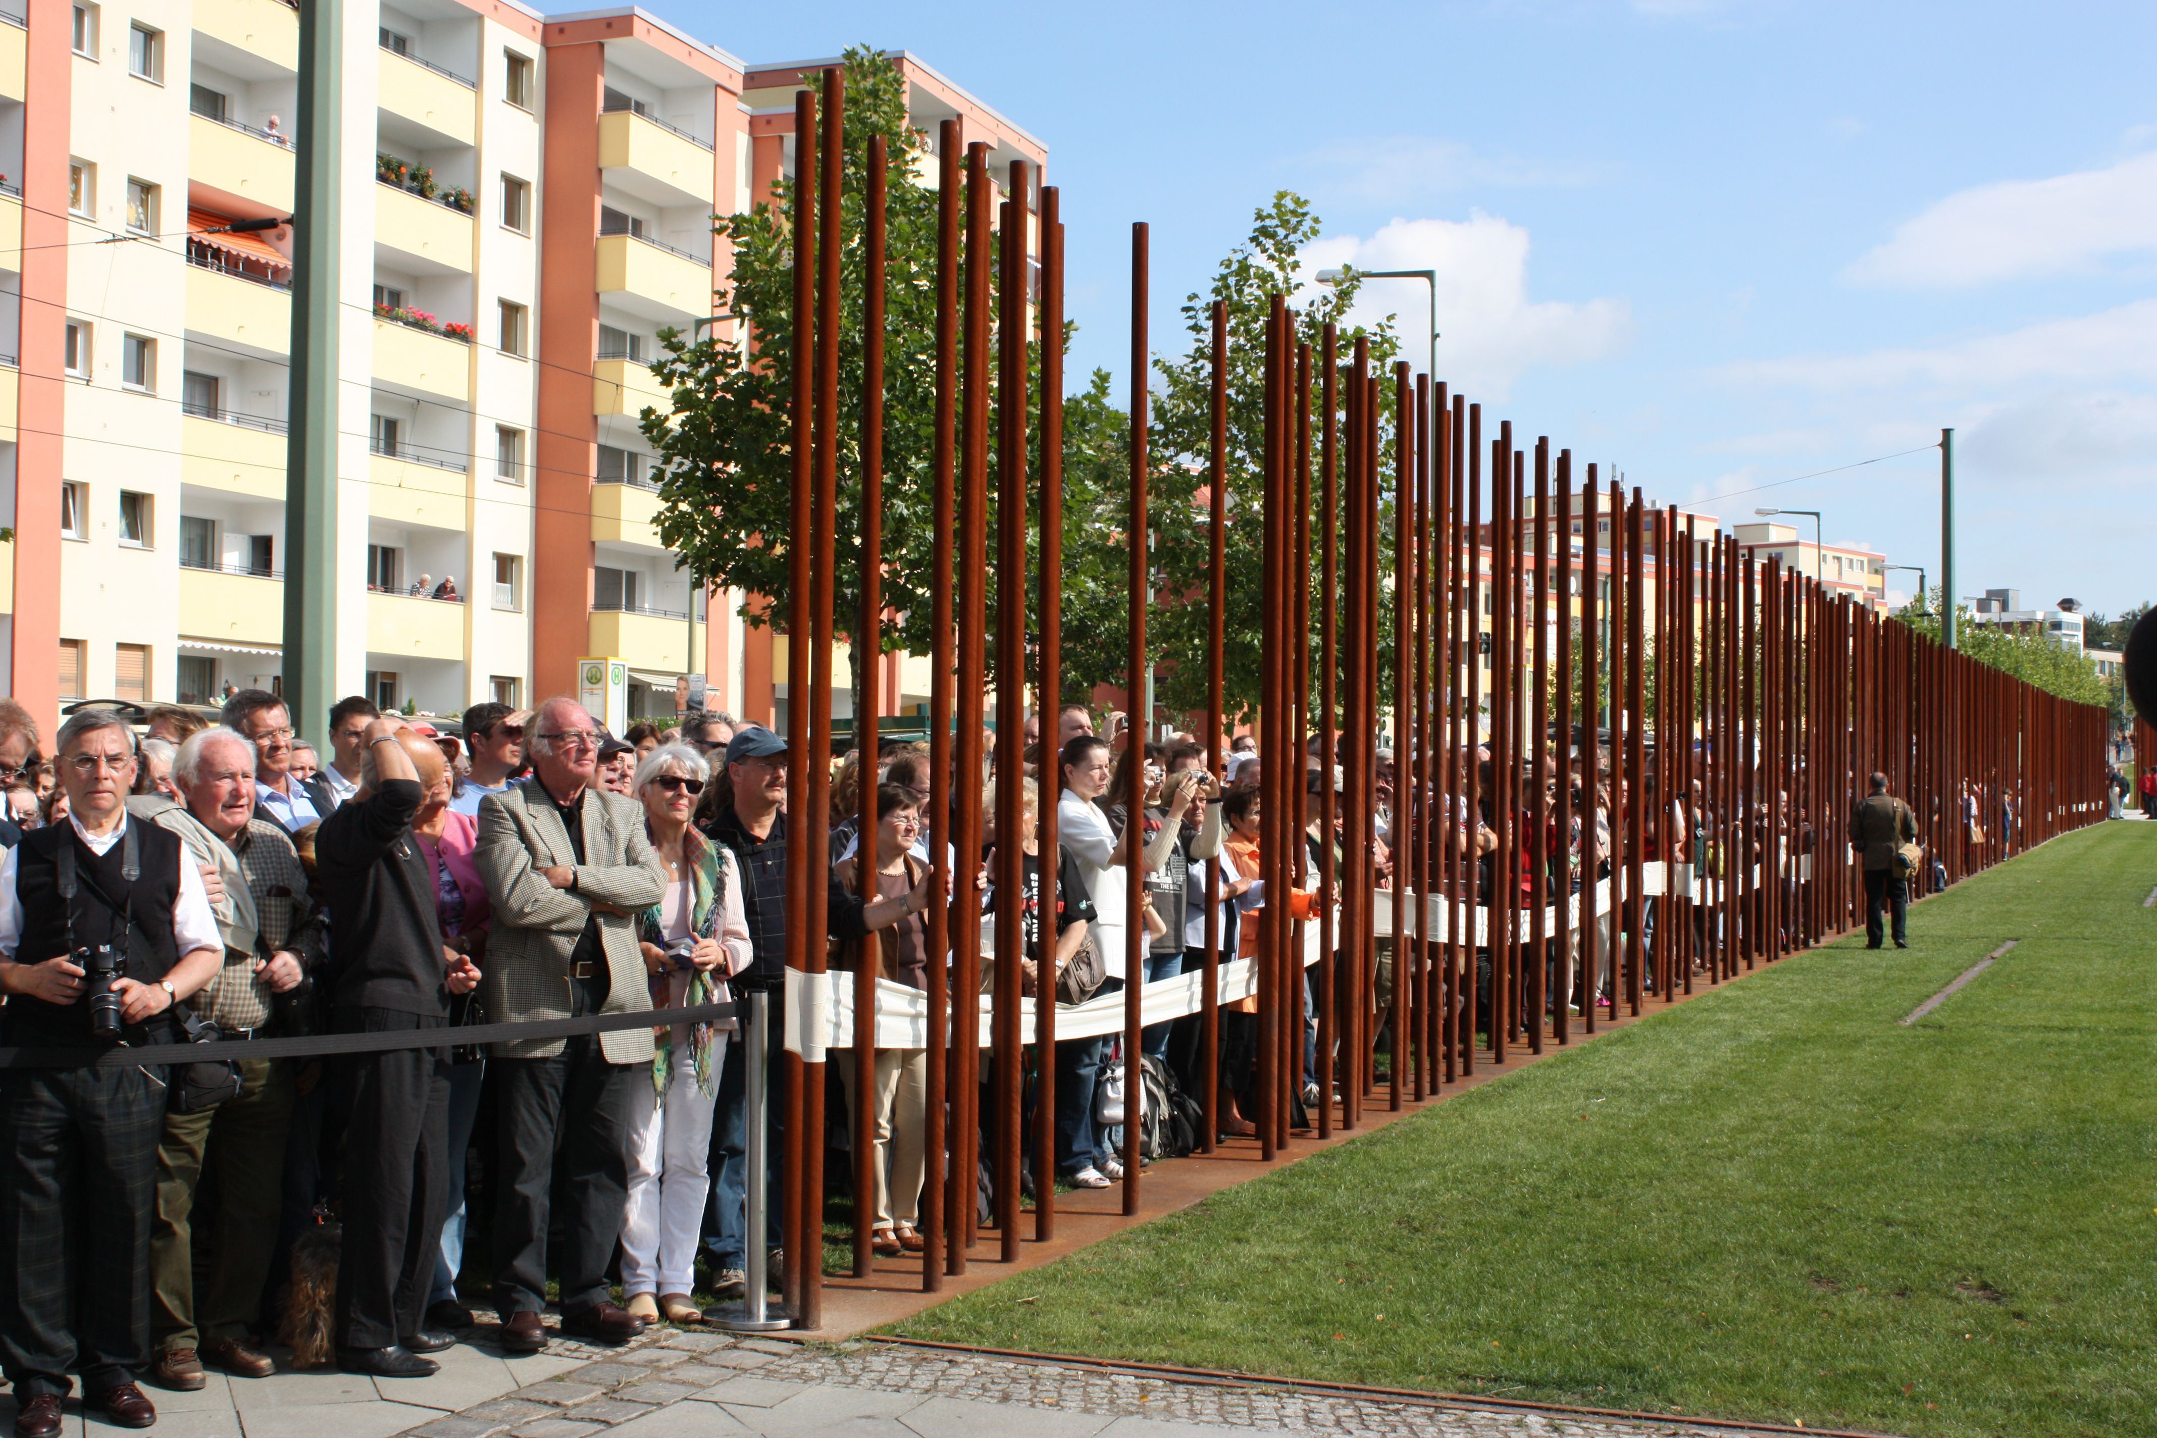
<svg viewBox="0 0 2157 1438">
<path fill-rule="evenodd" d="M 360 787 L 315 834 L 339 1033 L 442 1028 L 446 1039 L 449 996 L 479 983 L 472 959 L 442 946 L 434 867 L 412 839 L 412 815 L 440 776 L 431 739 L 377 718 L 362 735 Z M 440 1365 L 421 1354 L 455 1341 L 421 1326 L 449 1205 L 449 1048 L 354 1054 L 345 1065 L 339 1363 L 373 1378 L 427 1378 Z"/>
</svg>

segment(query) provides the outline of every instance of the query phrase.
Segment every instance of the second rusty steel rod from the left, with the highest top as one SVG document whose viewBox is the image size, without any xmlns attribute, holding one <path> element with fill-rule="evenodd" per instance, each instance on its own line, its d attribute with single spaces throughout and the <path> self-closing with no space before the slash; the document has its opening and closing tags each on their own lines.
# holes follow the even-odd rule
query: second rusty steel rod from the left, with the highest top
<svg viewBox="0 0 2157 1438">
<path fill-rule="evenodd" d="M 830 815 L 830 653 L 833 653 L 833 582 L 837 580 L 839 528 L 839 291 L 846 282 L 846 250 L 839 226 L 839 203 L 846 179 L 846 71 L 824 71 L 824 129 L 818 134 L 824 164 L 818 183 L 824 203 L 818 209 L 818 295 L 815 295 L 815 569 L 809 642 L 809 783 L 802 793 L 802 824 L 818 836 Z M 809 886 L 809 972 L 826 970 L 824 946 L 830 934 L 830 888 L 822 882 L 828 856 L 822 843 L 811 854 L 802 875 Z M 809 877 L 815 875 L 815 877 Z M 792 1274 L 800 1270 L 800 1328 L 824 1326 L 824 1065 L 802 1065 L 802 1248 Z"/>
</svg>

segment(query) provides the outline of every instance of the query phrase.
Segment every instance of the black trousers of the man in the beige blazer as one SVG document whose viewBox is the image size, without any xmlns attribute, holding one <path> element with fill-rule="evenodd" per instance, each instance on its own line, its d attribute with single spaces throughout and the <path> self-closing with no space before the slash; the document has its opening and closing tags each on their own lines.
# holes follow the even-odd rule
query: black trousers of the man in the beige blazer
<svg viewBox="0 0 2157 1438">
<path fill-rule="evenodd" d="M 733 1048 L 731 1043 L 727 1048 Z M 500 1181 L 494 1216 L 494 1306 L 546 1309 L 548 1201 L 554 1162 L 561 1197 L 561 1311 L 608 1296 L 606 1266 L 621 1237 L 630 1190 L 630 1091 L 651 1082 L 649 1063 L 608 1063 L 600 1035 L 563 1039 L 554 1059 L 490 1059 L 500 1104 Z"/>
</svg>

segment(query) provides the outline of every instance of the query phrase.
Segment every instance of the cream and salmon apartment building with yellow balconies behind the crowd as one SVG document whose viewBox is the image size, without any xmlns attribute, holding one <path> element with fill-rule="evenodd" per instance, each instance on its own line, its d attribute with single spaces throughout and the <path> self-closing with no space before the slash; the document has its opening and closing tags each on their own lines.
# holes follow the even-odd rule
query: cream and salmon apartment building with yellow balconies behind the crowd
<svg viewBox="0 0 2157 1438">
<path fill-rule="evenodd" d="M 231 226 L 291 213 L 298 11 L 9 4 L 9 688 L 39 716 L 278 688 L 293 241 Z M 636 9 L 516 0 L 347 4 L 341 43 L 339 692 L 453 714 L 572 692 L 597 655 L 628 677 L 617 718 L 671 714 L 686 670 L 768 714 L 783 645 L 658 541 L 636 414 L 664 403 L 658 332 L 716 308 L 712 213 L 792 168 L 761 112 L 792 129 L 818 67 L 748 71 Z M 1042 162 L 897 58 L 917 123 L 960 116 Z"/>
</svg>

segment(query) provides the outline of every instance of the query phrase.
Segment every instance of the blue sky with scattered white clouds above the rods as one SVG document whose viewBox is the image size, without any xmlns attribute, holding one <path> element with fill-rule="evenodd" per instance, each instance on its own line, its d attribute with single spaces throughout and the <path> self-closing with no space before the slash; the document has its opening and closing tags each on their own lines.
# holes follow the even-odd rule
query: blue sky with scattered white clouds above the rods
<svg viewBox="0 0 2157 1438">
<path fill-rule="evenodd" d="M 1439 377 L 1650 498 L 1937 582 L 1931 451 L 1741 492 L 1952 425 L 1963 595 L 2157 597 L 2157 6 L 647 4 L 759 63 L 912 50 L 1040 136 L 1074 373 L 1126 362 L 1132 220 L 1182 347 L 1288 188 L 1316 263 L 1443 272 Z"/>
</svg>

